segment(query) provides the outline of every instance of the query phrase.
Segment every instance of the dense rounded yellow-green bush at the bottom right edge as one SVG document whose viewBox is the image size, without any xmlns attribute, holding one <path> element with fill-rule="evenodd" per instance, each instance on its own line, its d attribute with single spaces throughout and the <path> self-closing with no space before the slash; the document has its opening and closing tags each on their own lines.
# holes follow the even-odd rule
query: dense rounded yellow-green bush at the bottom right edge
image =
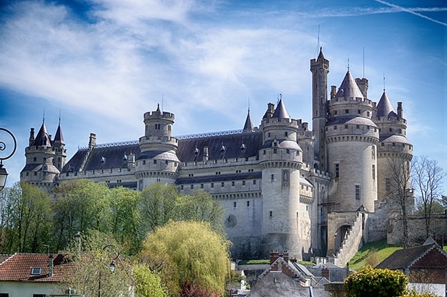
<svg viewBox="0 0 447 297">
<path fill-rule="evenodd" d="M 348 297 L 397 297 L 405 292 L 408 278 L 399 270 L 373 269 L 371 266 L 345 279 Z"/>
</svg>

